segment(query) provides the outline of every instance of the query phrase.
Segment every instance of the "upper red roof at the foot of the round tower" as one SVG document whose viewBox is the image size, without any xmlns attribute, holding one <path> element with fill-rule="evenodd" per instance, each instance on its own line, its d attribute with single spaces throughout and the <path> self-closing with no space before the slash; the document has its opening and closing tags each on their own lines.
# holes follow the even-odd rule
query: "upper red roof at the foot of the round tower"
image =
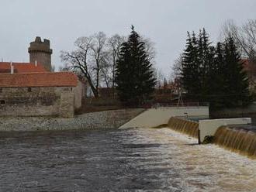
<svg viewBox="0 0 256 192">
<path fill-rule="evenodd" d="M 47 72 L 47 70 L 40 63 L 12 63 L 15 73 L 37 73 Z M 11 63 L 0 62 L 0 74 L 11 73 Z"/>
</svg>

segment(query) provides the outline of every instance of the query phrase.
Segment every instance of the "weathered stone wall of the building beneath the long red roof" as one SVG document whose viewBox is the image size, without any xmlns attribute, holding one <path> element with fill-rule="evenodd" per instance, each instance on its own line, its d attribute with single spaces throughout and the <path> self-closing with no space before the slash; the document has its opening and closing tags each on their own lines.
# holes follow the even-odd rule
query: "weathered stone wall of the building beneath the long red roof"
<svg viewBox="0 0 256 192">
<path fill-rule="evenodd" d="M 0 116 L 74 116 L 75 87 L 3 87 Z"/>
</svg>

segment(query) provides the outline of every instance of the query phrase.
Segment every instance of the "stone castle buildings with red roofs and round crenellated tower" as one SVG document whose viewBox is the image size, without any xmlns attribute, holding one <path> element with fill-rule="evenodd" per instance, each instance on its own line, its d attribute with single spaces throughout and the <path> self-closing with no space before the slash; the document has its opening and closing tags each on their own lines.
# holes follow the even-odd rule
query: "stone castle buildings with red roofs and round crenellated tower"
<svg viewBox="0 0 256 192">
<path fill-rule="evenodd" d="M 50 41 L 36 37 L 29 63 L 0 62 L 0 116 L 74 117 L 85 86 L 72 72 L 51 72 Z"/>
</svg>

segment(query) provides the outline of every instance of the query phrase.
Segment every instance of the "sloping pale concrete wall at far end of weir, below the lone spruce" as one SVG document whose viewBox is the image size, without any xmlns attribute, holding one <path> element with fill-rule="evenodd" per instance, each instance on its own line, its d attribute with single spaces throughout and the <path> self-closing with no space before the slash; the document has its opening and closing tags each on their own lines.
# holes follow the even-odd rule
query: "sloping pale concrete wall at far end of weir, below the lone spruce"
<svg viewBox="0 0 256 192">
<path fill-rule="evenodd" d="M 171 117 L 209 118 L 209 107 L 192 106 L 150 108 L 138 115 L 136 118 L 133 118 L 130 122 L 119 127 L 119 129 L 157 127 L 159 125 L 168 124 Z"/>
</svg>

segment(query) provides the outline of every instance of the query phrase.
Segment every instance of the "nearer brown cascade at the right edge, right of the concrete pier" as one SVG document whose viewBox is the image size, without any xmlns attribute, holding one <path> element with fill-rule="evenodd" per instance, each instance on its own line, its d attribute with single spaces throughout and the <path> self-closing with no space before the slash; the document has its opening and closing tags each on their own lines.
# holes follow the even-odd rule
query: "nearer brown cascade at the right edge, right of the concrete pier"
<svg viewBox="0 0 256 192">
<path fill-rule="evenodd" d="M 214 135 L 214 143 L 241 155 L 256 159 L 256 130 L 221 126 Z"/>
</svg>

